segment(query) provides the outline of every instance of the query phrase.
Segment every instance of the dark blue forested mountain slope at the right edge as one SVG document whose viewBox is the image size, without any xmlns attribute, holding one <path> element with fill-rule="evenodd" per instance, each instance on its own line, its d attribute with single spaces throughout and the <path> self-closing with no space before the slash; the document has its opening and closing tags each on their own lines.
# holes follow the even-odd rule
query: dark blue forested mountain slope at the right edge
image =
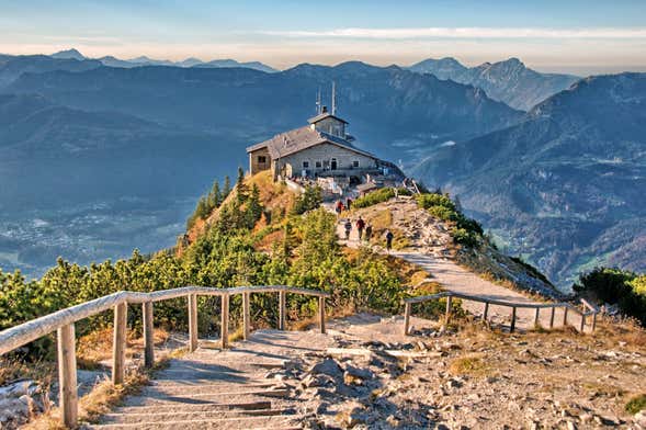
<svg viewBox="0 0 646 430">
<path fill-rule="evenodd" d="M 645 272 L 646 73 L 580 80 L 415 173 L 562 284 L 597 264 Z"/>
</svg>

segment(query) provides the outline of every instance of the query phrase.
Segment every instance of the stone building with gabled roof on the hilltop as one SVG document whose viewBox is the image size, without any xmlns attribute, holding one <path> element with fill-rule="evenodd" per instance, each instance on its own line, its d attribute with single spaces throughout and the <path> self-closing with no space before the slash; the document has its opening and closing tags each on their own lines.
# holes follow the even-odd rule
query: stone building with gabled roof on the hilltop
<svg viewBox="0 0 646 430">
<path fill-rule="evenodd" d="M 325 106 L 308 123 L 248 147 L 250 173 L 270 169 L 274 180 L 347 177 L 359 181 L 366 174 L 400 174 L 395 165 L 354 147 L 345 133 L 348 122 Z"/>
</svg>

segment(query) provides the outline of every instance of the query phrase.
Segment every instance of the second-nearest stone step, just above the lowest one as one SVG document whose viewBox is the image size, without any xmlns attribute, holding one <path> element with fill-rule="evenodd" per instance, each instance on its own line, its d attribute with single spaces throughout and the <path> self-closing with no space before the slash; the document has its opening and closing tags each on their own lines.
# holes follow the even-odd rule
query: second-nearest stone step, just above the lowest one
<svg viewBox="0 0 646 430">
<path fill-rule="evenodd" d="M 125 414 L 112 412 L 105 414 L 101 418 L 102 425 L 113 423 L 134 423 L 134 422 L 168 422 L 168 421 L 189 421 L 189 420 L 213 420 L 234 417 L 273 417 L 273 416 L 292 416 L 294 409 L 230 409 L 230 410 L 205 410 L 205 411 L 155 411 L 155 412 L 133 412 Z"/>
</svg>

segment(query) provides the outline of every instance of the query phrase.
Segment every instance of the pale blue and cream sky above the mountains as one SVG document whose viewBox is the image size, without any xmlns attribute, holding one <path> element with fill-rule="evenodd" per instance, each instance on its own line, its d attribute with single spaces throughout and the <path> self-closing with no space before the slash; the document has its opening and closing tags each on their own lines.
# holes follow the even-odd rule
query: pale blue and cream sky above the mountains
<svg viewBox="0 0 646 430">
<path fill-rule="evenodd" d="M 646 0 L 0 0 L 0 53 L 646 71 Z"/>
</svg>

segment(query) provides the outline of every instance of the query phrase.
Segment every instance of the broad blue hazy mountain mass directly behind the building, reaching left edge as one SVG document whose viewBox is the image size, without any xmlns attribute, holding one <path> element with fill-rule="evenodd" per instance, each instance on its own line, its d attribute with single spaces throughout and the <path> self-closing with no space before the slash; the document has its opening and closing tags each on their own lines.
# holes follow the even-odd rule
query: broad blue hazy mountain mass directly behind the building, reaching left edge
<svg viewBox="0 0 646 430">
<path fill-rule="evenodd" d="M 57 256 L 88 263 L 172 246 L 196 196 L 246 166 L 246 146 L 305 124 L 332 80 L 359 144 L 409 165 L 522 116 L 479 89 L 361 63 L 267 73 L 3 61 L 0 267 L 34 275 Z"/>
</svg>

